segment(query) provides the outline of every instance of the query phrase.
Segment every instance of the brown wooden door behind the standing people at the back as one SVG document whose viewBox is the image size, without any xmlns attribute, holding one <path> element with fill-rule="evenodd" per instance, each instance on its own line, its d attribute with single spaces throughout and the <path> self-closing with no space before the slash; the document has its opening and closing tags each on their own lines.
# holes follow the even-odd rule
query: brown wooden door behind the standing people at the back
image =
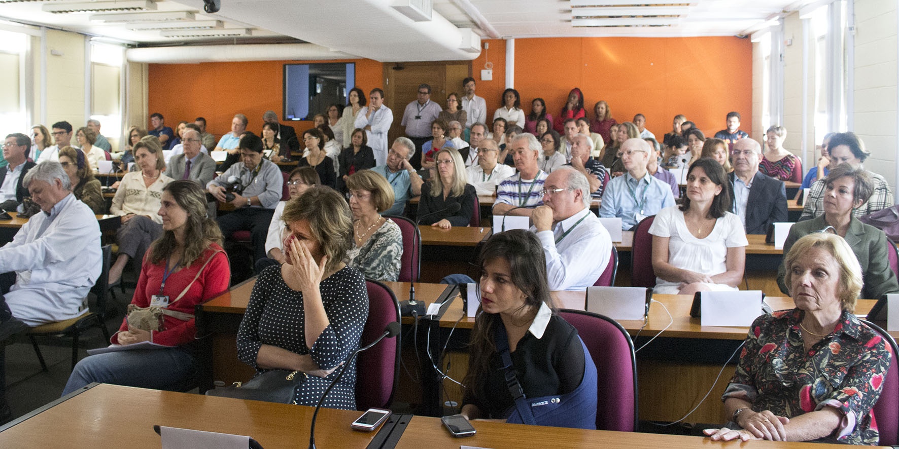
<svg viewBox="0 0 899 449">
<path fill-rule="evenodd" d="M 408 62 L 384 65 L 384 104 L 393 110 L 394 122 L 388 133 L 391 145 L 398 136 L 405 136 L 403 121 L 405 106 L 418 99 L 418 84 L 431 85 L 431 101 L 441 108 L 447 106 L 447 95 L 463 95 L 462 80 L 471 74 L 469 61 Z"/>
</svg>

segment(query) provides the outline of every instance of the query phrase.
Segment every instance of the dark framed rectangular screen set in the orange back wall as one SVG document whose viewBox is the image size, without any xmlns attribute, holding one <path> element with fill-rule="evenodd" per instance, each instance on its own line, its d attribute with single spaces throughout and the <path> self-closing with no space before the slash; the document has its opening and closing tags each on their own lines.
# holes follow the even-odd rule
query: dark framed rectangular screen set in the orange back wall
<svg viewBox="0 0 899 449">
<path fill-rule="evenodd" d="M 356 85 L 355 63 L 284 65 L 285 120 L 311 120 L 324 114 L 329 105 L 347 104 L 346 96 Z"/>
</svg>

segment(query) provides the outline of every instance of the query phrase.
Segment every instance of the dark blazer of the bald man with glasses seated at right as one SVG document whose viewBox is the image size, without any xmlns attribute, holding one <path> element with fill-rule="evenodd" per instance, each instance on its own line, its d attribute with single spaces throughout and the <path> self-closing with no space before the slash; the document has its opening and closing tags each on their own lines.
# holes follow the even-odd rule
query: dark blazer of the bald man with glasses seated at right
<svg viewBox="0 0 899 449">
<path fill-rule="evenodd" d="M 735 191 L 734 176 L 734 172 L 727 175 L 731 183 L 731 192 Z M 735 207 L 732 207 L 732 210 L 734 209 Z M 786 221 L 787 189 L 783 181 L 756 172 L 752 178 L 752 188 L 749 189 L 749 200 L 746 202 L 746 233 L 768 233 L 772 223 Z"/>
</svg>

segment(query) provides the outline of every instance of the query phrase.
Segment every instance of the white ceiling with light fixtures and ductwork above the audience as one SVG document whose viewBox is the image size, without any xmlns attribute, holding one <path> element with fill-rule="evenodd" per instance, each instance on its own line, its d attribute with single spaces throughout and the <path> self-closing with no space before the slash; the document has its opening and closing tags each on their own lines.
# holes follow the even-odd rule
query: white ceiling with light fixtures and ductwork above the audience
<svg viewBox="0 0 899 449">
<path fill-rule="evenodd" d="M 130 30 L 126 23 L 92 22 L 93 13 L 46 13 L 43 4 L 88 0 L 0 0 L 0 19 L 46 25 L 120 40 L 134 46 L 208 43 L 310 42 L 378 61 L 471 59 L 460 40 L 467 28 L 489 38 L 601 36 L 729 36 L 769 26 L 779 14 L 814 0 L 432 0 L 430 22 L 413 22 L 392 4 L 403 0 L 221 0 L 221 11 L 203 13 L 202 0 L 159 0 L 156 12 L 190 11 L 194 21 L 221 21 L 223 29 L 250 30 L 239 38 L 168 38 L 157 30 Z M 102 0 L 93 0 L 102 1 Z M 111 0 L 105 0 L 111 1 Z M 409 0 L 405 0 L 408 2 Z M 680 2 L 680 3 L 679 3 Z M 632 3 L 620 6 L 620 4 Z M 649 6 L 648 4 L 662 4 Z M 575 27 L 573 4 L 618 4 L 588 14 L 616 24 L 665 26 Z M 638 6 L 640 4 L 642 6 Z M 659 11 L 667 17 L 654 17 Z M 610 16 L 610 17 L 606 17 Z M 374 45 L 373 45 L 374 43 Z"/>
</svg>

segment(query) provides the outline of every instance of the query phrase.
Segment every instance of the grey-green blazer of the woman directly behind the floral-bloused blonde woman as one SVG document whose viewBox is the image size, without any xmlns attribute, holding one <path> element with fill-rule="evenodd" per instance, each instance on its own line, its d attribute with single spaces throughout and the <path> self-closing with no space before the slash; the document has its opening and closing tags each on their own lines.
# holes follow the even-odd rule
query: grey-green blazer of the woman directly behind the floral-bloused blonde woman
<svg viewBox="0 0 899 449">
<path fill-rule="evenodd" d="M 789 229 L 787 241 L 784 242 L 784 254 L 787 254 L 800 238 L 809 233 L 821 231 L 825 227 L 827 227 L 827 222 L 824 220 L 824 216 L 793 225 Z M 889 251 L 886 233 L 874 226 L 861 223 L 858 218 L 853 216 L 850 219 L 845 240 L 861 265 L 864 282 L 861 298 L 879 299 L 883 295 L 899 293 L 899 284 L 896 283 L 895 273 L 890 268 L 890 262 L 886 257 L 886 251 Z M 781 263 L 778 269 L 778 286 L 781 292 L 788 294 L 789 286 L 786 276 L 787 268 Z"/>
</svg>

